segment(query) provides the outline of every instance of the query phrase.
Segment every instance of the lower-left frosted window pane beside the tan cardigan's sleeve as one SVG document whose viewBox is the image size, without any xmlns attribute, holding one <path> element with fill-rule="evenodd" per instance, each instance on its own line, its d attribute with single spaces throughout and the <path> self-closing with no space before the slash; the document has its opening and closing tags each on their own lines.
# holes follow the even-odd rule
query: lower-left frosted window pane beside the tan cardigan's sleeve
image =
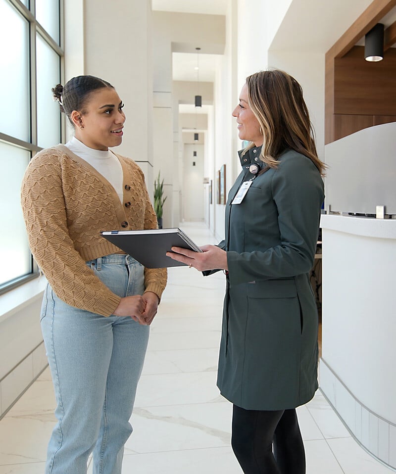
<svg viewBox="0 0 396 474">
<path fill-rule="evenodd" d="M 20 204 L 30 153 L 0 142 L 0 284 L 31 273 L 31 254 Z"/>
</svg>

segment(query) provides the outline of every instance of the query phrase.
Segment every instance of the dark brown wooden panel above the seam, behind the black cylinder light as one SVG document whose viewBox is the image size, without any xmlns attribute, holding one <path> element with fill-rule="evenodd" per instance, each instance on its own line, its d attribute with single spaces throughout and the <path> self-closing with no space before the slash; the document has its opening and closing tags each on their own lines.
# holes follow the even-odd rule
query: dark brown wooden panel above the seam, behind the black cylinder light
<svg viewBox="0 0 396 474">
<path fill-rule="evenodd" d="M 334 113 L 396 115 L 396 48 L 383 61 L 364 60 L 364 47 L 353 47 L 334 65 Z"/>
</svg>

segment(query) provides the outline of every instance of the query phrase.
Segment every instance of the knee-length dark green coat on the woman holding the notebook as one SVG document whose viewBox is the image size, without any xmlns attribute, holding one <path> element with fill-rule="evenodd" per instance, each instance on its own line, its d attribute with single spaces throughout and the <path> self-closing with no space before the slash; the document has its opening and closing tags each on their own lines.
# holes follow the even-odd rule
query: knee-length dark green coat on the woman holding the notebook
<svg viewBox="0 0 396 474">
<path fill-rule="evenodd" d="M 231 204 L 260 148 L 241 157 L 243 171 L 225 211 L 228 276 L 217 386 L 247 410 L 282 410 L 309 401 L 318 387 L 318 314 L 308 273 L 324 199 L 313 162 L 286 151 L 277 169 L 256 176 Z M 240 152 L 241 154 L 241 152 Z"/>
</svg>

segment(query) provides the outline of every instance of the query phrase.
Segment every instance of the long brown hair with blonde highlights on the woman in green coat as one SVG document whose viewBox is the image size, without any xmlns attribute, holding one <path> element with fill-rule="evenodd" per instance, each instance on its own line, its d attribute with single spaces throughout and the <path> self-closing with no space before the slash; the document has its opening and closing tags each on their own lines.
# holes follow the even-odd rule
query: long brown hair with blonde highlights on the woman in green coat
<svg viewBox="0 0 396 474">
<path fill-rule="evenodd" d="M 274 69 L 248 76 L 246 84 L 249 107 L 263 134 L 260 159 L 276 168 L 279 156 L 292 149 L 310 158 L 324 176 L 326 165 L 318 158 L 308 108 L 296 79 Z M 249 143 L 243 154 L 253 146 Z"/>
</svg>

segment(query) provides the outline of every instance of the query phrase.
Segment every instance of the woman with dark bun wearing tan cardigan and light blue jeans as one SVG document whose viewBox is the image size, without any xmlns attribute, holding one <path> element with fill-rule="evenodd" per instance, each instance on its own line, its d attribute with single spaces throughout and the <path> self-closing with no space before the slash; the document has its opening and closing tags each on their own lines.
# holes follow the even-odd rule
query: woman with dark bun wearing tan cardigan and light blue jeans
<svg viewBox="0 0 396 474">
<path fill-rule="evenodd" d="M 94 76 L 53 90 L 74 137 L 40 151 L 21 189 L 29 244 L 48 280 L 41 327 L 57 424 L 46 474 L 120 474 L 149 325 L 166 269 L 147 269 L 100 236 L 154 229 L 142 170 L 109 148 L 125 114 L 114 87 Z"/>
</svg>

